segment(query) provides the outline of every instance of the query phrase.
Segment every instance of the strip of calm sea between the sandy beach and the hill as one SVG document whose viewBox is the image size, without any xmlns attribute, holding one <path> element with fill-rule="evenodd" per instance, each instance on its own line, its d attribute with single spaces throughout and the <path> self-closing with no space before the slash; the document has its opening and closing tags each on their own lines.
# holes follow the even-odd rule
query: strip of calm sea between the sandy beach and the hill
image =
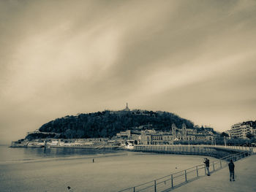
<svg viewBox="0 0 256 192">
<path fill-rule="evenodd" d="M 39 158 L 56 158 L 77 155 L 97 155 L 116 153 L 116 150 L 92 150 L 80 148 L 34 148 L 34 147 L 8 147 L 0 145 L 0 162 L 28 161 Z"/>
</svg>

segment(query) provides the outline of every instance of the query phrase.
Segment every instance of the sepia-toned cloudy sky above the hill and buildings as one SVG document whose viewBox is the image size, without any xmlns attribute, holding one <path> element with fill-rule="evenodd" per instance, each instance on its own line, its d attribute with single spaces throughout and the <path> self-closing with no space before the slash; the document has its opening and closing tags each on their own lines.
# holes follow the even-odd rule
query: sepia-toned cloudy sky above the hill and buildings
<svg viewBox="0 0 256 192">
<path fill-rule="evenodd" d="M 0 142 L 66 115 L 256 120 L 256 1 L 0 1 Z"/>
</svg>

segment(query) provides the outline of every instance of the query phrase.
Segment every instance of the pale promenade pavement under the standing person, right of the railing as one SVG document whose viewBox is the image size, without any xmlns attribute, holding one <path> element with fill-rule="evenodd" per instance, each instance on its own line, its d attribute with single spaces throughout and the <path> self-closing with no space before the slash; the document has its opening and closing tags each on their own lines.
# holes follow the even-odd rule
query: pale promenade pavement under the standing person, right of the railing
<svg viewBox="0 0 256 192">
<path fill-rule="evenodd" d="M 235 180 L 230 182 L 228 167 L 186 183 L 173 192 L 256 192 L 256 155 L 236 161 Z"/>
</svg>

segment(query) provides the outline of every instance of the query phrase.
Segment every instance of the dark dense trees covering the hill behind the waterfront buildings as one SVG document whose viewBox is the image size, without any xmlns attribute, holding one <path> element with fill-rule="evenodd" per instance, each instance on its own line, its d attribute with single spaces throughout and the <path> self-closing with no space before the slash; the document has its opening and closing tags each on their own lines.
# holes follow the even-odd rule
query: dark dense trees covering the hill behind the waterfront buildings
<svg viewBox="0 0 256 192">
<path fill-rule="evenodd" d="M 158 131 L 170 131 L 173 123 L 178 128 L 181 128 L 182 123 L 185 123 L 187 128 L 194 127 L 191 121 L 170 112 L 141 110 L 111 112 L 105 110 L 103 112 L 57 118 L 42 125 L 39 131 L 58 133 L 55 136 L 56 138 L 113 137 L 120 131 L 148 124 Z M 36 136 L 29 135 L 27 137 Z"/>
</svg>

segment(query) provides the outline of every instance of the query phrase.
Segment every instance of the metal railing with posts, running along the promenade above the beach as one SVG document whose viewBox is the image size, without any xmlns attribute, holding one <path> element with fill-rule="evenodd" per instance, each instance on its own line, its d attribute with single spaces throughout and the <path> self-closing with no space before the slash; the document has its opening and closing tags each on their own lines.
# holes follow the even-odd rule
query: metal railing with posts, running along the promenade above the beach
<svg viewBox="0 0 256 192">
<path fill-rule="evenodd" d="M 216 172 L 219 169 L 227 166 L 228 161 L 232 159 L 233 161 L 238 161 L 241 158 L 245 158 L 246 156 L 251 155 L 250 152 L 240 152 L 232 155 L 227 155 L 223 158 L 219 158 L 216 161 L 212 161 L 209 166 L 210 172 Z M 185 183 L 195 180 L 198 177 L 202 177 L 206 175 L 206 166 L 205 164 L 200 164 L 197 166 L 193 166 L 189 169 L 185 169 L 181 172 L 176 172 L 173 174 L 169 174 L 165 177 L 161 177 L 157 180 L 152 180 L 147 183 L 143 183 L 140 185 L 136 185 L 131 188 L 126 188 L 121 190 L 123 192 L 139 192 L 139 191 L 147 191 L 147 192 L 157 192 L 157 191 L 170 191 L 173 188 L 177 188 Z M 118 191 L 118 192 L 121 192 Z"/>
</svg>

